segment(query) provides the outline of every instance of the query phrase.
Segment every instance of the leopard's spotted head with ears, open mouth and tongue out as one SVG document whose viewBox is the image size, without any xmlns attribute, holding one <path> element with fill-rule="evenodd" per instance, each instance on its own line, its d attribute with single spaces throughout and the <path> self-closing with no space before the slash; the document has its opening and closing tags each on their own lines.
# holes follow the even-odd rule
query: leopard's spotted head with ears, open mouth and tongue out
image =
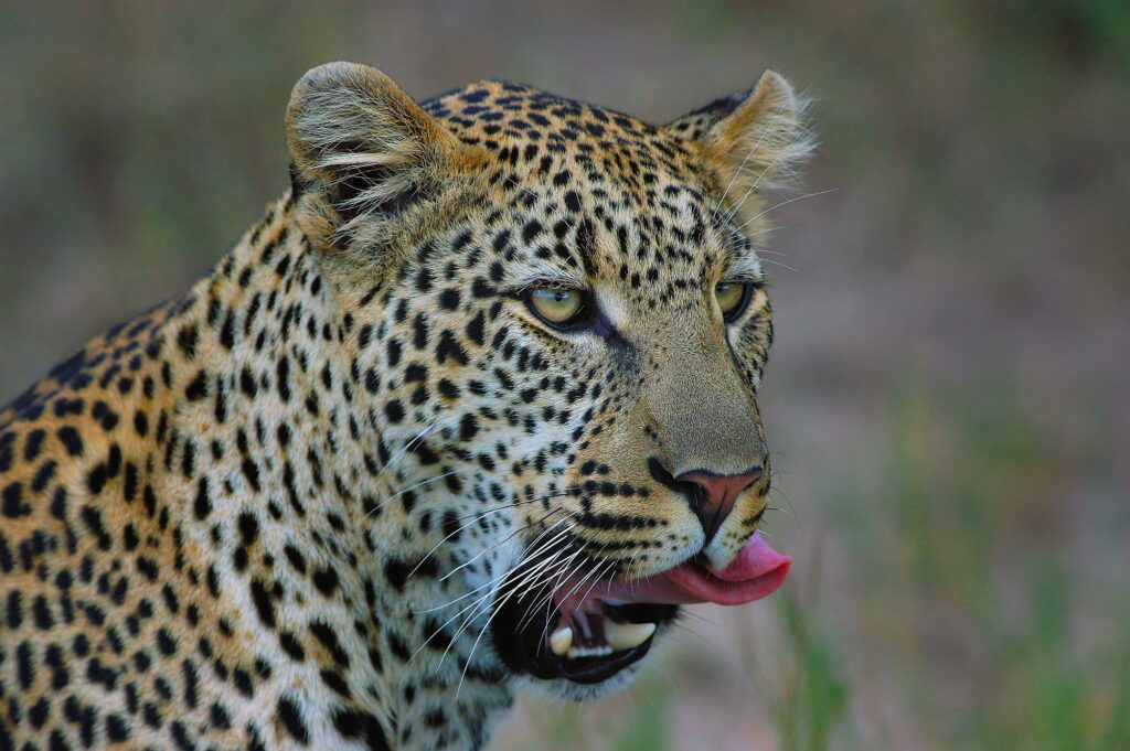
<svg viewBox="0 0 1130 751">
<path fill-rule="evenodd" d="M 452 627 L 585 698 L 680 605 L 781 583 L 756 534 L 757 239 L 811 149 L 783 78 L 657 128 L 501 81 L 417 104 L 332 63 L 295 88 L 287 136 L 397 501 L 372 523 L 466 582 L 437 603 Z"/>
</svg>

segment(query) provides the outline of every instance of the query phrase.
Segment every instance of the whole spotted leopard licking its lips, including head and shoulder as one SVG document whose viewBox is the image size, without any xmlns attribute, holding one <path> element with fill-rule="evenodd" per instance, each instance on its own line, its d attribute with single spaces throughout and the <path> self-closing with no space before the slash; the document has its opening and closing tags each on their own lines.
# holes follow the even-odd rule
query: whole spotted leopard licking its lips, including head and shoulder
<svg viewBox="0 0 1130 751">
<path fill-rule="evenodd" d="M 0 750 L 481 749 L 784 579 L 783 77 L 652 125 L 338 62 L 284 125 L 234 248 L 0 410 Z"/>
</svg>

